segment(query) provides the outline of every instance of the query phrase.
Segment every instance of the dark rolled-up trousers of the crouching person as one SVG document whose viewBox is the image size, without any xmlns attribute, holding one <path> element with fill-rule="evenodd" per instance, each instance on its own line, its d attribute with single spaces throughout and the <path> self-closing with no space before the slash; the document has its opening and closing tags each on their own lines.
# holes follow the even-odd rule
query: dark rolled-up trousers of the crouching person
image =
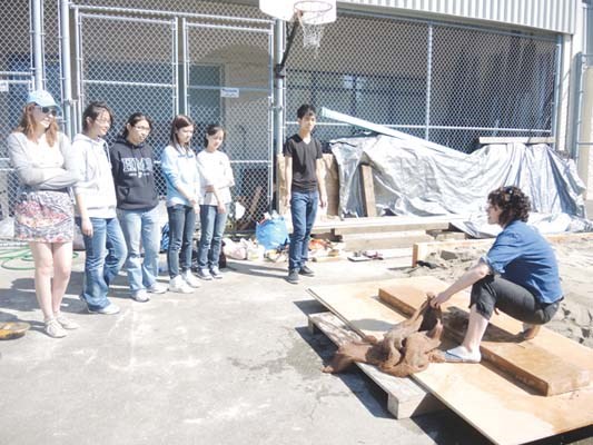
<svg viewBox="0 0 593 445">
<path fill-rule="evenodd" d="M 497 308 L 520 322 L 543 325 L 556 314 L 561 299 L 552 304 L 540 303 L 524 287 L 488 275 L 472 287 L 470 307 L 475 304 L 477 313 L 488 320 Z"/>
</svg>

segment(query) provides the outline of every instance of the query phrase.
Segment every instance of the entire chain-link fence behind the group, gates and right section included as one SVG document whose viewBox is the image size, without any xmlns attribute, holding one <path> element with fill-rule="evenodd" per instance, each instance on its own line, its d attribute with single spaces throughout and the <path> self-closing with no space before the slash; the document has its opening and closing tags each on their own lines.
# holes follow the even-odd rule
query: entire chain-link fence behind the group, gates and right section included
<svg viewBox="0 0 593 445">
<path fill-rule="evenodd" d="M 253 227 L 268 209 L 274 189 L 274 34 L 257 2 L 76 3 L 70 10 L 73 17 L 79 8 L 78 20 L 70 22 L 73 127 L 80 128 L 89 101 L 105 100 L 116 113 L 108 135 L 112 141 L 127 117 L 142 111 L 155 120 L 149 144 L 158 155 L 178 111 L 197 122 L 196 148 L 201 148 L 205 126 L 221 123 L 227 130 L 224 150 L 237 182 L 234 198 L 243 207 L 231 222 Z M 63 98 L 59 4 L 43 2 L 43 85 Z M 29 1 L 13 0 L 0 12 L 2 141 L 17 126 L 33 85 L 29 8 Z M 337 22 L 326 27 L 317 58 L 302 48 L 300 39 L 299 30 L 287 61 L 286 136 L 297 130 L 296 109 L 305 102 L 465 152 L 480 136 L 553 135 L 559 70 L 553 39 L 347 10 L 338 11 Z M 327 141 L 355 131 L 320 119 L 316 136 Z M 3 219 L 10 215 L 17 182 L 6 144 L 0 152 Z M 164 195 L 165 182 L 157 175 Z"/>
</svg>

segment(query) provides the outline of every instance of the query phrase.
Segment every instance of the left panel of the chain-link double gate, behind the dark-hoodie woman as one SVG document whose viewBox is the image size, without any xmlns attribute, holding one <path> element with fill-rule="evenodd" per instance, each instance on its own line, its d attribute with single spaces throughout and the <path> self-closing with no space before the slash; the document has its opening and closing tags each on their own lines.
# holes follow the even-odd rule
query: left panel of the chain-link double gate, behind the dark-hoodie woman
<svg viewBox="0 0 593 445">
<path fill-rule="evenodd" d="M 108 135 L 112 141 L 131 113 L 144 112 L 154 120 L 148 141 L 159 155 L 179 110 L 177 20 L 85 13 L 77 8 L 73 17 L 79 98 L 76 122 L 90 101 L 107 102 L 116 115 Z"/>
</svg>

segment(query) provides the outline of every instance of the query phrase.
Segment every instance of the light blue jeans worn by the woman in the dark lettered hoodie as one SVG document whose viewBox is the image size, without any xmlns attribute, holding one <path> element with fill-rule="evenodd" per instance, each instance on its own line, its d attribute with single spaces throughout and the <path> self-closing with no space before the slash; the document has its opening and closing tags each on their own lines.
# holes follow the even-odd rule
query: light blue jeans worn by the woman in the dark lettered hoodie
<svg viewBox="0 0 593 445">
<path fill-rule="evenodd" d="M 118 209 L 118 218 L 128 246 L 128 260 L 126 263 L 128 281 L 131 293 L 136 294 L 157 281 L 160 247 L 158 207 L 150 210 Z M 145 250 L 144 260 L 140 240 Z"/>
</svg>

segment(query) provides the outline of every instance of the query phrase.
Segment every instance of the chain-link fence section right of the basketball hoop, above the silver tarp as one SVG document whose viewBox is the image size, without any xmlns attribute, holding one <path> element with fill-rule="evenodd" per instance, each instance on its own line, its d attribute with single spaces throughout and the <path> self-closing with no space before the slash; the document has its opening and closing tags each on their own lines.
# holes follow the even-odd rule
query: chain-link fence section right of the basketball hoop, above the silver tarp
<svg viewBox="0 0 593 445">
<path fill-rule="evenodd" d="M 350 36 L 344 44 L 344 36 Z M 288 59 L 287 134 L 310 102 L 471 152 L 481 136 L 552 136 L 556 41 L 338 11 L 317 58 Z M 320 119 L 317 137 L 356 129 Z"/>
</svg>

